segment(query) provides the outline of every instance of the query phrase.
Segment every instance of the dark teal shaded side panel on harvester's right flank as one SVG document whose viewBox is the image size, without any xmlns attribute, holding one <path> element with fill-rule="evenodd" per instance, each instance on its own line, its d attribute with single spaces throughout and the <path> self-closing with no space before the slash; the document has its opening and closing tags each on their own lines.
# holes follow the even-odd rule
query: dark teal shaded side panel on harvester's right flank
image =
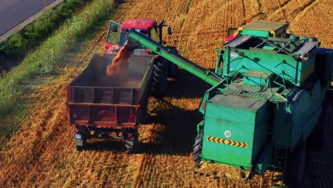
<svg viewBox="0 0 333 188">
<path fill-rule="evenodd" d="M 300 139 L 305 141 L 317 125 L 325 92 L 318 80 L 312 90 L 299 90 L 292 95 L 287 108 L 285 103 L 278 103 L 275 106 L 273 142 L 284 147 L 295 147 Z"/>
</svg>

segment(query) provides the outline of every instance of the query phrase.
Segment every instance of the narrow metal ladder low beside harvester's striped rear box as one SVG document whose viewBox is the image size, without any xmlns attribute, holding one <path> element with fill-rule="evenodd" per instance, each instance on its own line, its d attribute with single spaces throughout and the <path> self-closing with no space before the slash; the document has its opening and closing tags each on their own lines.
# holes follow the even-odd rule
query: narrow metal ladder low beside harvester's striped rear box
<svg viewBox="0 0 333 188">
<path fill-rule="evenodd" d="M 287 167 L 288 147 L 280 147 L 275 145 L 274 164 L 271 186 L 272 187 L 285 187 L 285 168 Z M 280 171 L 282 174 L 275 174 L 275 171 Z"/>
</svg>

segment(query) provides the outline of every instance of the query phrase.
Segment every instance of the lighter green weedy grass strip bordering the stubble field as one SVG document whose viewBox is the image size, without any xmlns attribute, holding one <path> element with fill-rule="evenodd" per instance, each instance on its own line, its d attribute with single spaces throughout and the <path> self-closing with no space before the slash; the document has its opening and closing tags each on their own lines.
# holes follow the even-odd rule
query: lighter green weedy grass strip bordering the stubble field
<svg viewBox="0 0 333 188">
<path fill-rule="evenodd" d="M 28 114 L 29 101 L 26 100 L 33 87 L 41 83 L 41 73 L 57 75 L 59 68 L 65 66 L 68 53 L 78 50 L 80 43 L 95 36 L 114 9 L 110 0 L 92 1 L 0 80 L 0 145 L 18 130 Z"/>
</svg>

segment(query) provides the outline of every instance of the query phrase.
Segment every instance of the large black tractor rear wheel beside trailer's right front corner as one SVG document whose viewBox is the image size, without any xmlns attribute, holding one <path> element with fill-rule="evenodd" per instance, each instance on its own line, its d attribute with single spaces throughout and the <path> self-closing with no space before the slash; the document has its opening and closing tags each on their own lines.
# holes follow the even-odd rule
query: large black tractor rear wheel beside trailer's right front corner
<svg viewBox="0 0 333 188">
<path fill-rule="evenodd" d="M 161 98 L 166 92 L 168 79 L 168 63 L 164 58 L 157 58 L 154 62 L 152 76 L 152 95 Z"/>
</svg>

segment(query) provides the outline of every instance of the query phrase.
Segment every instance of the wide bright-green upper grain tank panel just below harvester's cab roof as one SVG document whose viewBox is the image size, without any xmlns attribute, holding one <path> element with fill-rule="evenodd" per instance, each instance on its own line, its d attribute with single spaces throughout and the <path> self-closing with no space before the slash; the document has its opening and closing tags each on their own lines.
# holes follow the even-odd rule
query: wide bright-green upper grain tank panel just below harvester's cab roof
<svg viewBox="0 0 333 188">
<path fill-rule="evenodd" d="M 275 73 L 280 77 L 283 73 L 285 80 L 300 86 L 314 71 L 314 58 L 302 62 L 290 55 L 236 48 L 227 48 L 224 56 L 229 59 L 224 62 L 223 75 L 246 73 L 248 70 Z"/>
</svg>

